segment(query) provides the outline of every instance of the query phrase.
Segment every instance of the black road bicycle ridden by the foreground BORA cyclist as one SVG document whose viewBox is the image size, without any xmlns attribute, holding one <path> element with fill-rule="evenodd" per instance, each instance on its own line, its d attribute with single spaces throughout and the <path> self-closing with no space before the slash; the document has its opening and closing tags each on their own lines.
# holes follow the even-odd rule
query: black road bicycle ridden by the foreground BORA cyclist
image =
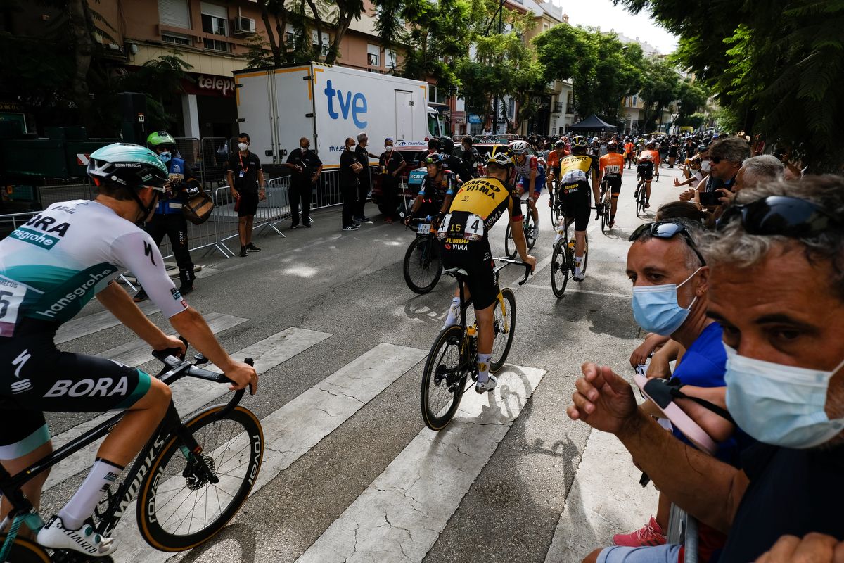
<svg viewBox="0 0 844 563">
<path fill-rule="evenodd" d="M 174 350 L 154 352 L 165 363 L 158 374 L 167 385 L 183 377 L 231 383 L 224 374 L 204 370 L 203 355 L 194 362 L 180 360 Z M 252 365 L 252 359 L 246 363 Z M 119 485 L 112 485 L 106 500 L 85 522 L 101 536 L 111 536 L 133 501 L 141 537 L 161 551 L 183 551 L 208 541 L 241 508 L 261 470 L 264 440 L 261 423 L 239 403 L 246 389 L 228 403 L 218 404 L 181 420 L 170 402 L 164 419 L 136 457 Z M 78 436 L 18 474 L 0 466 L 0 492 L 12 505 L 0 522 L 0 562 L 87 561 L 89 556 L 70 549 L 42 547 L 19 537 L 22 525 L 37 533 L 44 521 L 35 512 L 21 486 L 37 474 L 61 463 L 109 433 L 124 413 Z"/>
</svg>

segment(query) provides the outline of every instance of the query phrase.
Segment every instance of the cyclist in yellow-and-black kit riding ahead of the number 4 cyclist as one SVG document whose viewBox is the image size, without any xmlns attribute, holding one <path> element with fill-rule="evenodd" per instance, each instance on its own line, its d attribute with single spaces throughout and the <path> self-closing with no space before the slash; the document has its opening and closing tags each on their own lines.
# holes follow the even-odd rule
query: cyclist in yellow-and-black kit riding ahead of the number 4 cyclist
<svg viewBox="0 0 844 563">
<path fill-rule="evenodd" d="M 575 273 L 573 279 L 582 282 L 583 256 L 586 253 L 586 228 L 589 225 L 591 198 L 601 201 L 598 193 L 598 159 L 587 154 L 587 141 L 581 135 L 571 138 L 572 154 L 560 160 L 560 186 L 557 187 L 557 199 L 565 219 L 575 222 Z M 592 181 L 590 195 L 589 181 Z M 550 202 L 549 202 L 550 203 Z M 559 236 L 559 235 L 558 235 Z M 556 241 L 555 241 L 556 242 Z"/>
</svg>

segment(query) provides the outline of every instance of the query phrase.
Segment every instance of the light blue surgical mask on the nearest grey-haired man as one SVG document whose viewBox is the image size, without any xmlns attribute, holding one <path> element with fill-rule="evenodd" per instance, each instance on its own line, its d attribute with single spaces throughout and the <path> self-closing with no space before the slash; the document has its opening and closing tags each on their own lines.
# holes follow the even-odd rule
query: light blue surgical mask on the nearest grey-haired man
<svg viewBox="0 0 844 563">
<path fill-rule="evenodd" d="M 844 430 L 844 419 L 826 415 L 832 371 L 755 360 L 727 350 L 727 409 L 739 428 L 766 444 L 816 447 Z"/>
</svg>

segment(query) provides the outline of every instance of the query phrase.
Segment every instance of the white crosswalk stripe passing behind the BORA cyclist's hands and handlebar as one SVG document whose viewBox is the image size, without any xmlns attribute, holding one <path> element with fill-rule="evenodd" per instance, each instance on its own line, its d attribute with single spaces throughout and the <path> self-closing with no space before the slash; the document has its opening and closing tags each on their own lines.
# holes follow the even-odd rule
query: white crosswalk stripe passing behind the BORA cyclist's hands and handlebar
<svg viewBox="0 0 844 563">
<path fill-rule="evenodd" d="M 275 333 L 268 338 L 264 338 L 239 352 L 235 352 L 231 356 L 238 360 L 254 358 L 255 371 L 257 371 L 258 376 L 261 376 L 263 373 L 273 369 L 276 365 L 283 364 L 285 361 L 299 355 L 306 349 L 311 348 L 311 346 L 319 344 L 330 336 L 331 334 L 329 333 L 320 333 L 315 330 L 307 330 L 306 328 L 285 328 L 280 333 Z M 219 371 L 214 366 L 208 369 Z M 193 378 L 182 379 L 176 382 L 171 388 L 173 390 L 173 403 L 176 404 L 176 408 L 179 409 L 179 413 L 183 417 L 229 392 L 228 387 L 225 385 Z M 84 432 L 94 428 L 96 425 L 100 425 L 112 416 L 114 416 L 114 413 L 101 414 L 93 420 L 88 420 L 57 436 L 53 436 L 53 446 L 62 447 L 68 441 L 82 436 Z M 62 483 L 65 479 L 89 469 L 99 444 L 100 441 L 96 441 L 94 444 L 80 450 L 72 457 L 68 457 L 68 459 L 53 467 L 50 477 L 44 485 L 44 489 L 50 489 Z"/>
</svg>

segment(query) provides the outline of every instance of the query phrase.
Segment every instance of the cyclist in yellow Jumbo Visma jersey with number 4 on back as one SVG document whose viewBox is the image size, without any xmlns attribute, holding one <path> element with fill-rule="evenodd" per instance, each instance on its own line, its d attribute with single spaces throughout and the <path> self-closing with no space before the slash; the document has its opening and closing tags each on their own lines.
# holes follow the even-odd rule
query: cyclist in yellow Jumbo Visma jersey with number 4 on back
<svg viewBox="0 0 844 563">
<path fill-rule="evenodd" d="M 527 254 L 522 228 L 522 206 L 518 194 L 510 184 L 515 168 L 513 151 L 509 147 L 495 147 L 486 162 L 488 176 L 463 184 L 448 214 L 442 219 L 437 235 L 442 243 L 442 262 L 445 268 L 463 268 L 468 273 L 464 297 L 471 295 L 478 320 L 478 382 L 479 393 L 495 389 L 497 380 L 490 376 L 493 344 L 493 307 L 500 293 L 493 273 L 494 263 L 489 234 L 492 225 L 507 214 L 513 241 L 522 262 L 536 267 L 536 258 Z M 455 291 L 452 305 L 443 328 L 457 324 L 460 317 L 460 290 Z"/>
</svg>

